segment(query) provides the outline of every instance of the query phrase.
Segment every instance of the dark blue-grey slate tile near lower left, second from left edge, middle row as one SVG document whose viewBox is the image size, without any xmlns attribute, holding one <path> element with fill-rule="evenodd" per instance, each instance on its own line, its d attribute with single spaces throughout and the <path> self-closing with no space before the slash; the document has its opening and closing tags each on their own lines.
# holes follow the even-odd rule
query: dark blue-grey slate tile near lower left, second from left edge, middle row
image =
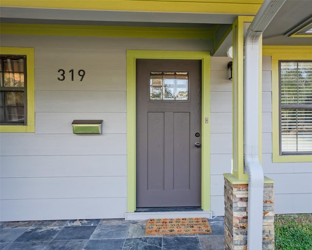
<svg viewBox="0 0 312 250">
<path fill-rule="evenodd" d="M 62 227 L 44 227 L 44 228 L 30 228 L 25 231 L 15 242 L 25 241 L 50 241 L 62 229 Z"/>
</svg>

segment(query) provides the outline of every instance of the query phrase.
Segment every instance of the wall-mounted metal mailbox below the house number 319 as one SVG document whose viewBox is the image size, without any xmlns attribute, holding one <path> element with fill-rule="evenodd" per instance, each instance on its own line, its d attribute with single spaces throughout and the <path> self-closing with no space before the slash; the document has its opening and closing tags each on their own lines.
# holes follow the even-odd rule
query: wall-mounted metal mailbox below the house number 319
<svg viewBox="0 0 312 250">
<path fill-rule="evenodd" d="M 85 133 L 102 133 L 102 123 L 103 120 L 74 120 L 72 122 L 73 132 L 75 134 L 85 134 Z"/>
</svg>

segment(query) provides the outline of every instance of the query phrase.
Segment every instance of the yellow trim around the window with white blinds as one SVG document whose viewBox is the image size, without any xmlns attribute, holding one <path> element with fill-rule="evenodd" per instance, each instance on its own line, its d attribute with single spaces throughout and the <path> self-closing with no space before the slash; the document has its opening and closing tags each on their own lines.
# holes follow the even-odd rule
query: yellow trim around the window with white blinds
<svg viewBox="0 0 312 250">
<path fill-rule="evenodd" d="M 312 46 L 263 46 L 272 59 L 272 153 L 273 162 L 312 162 L 312 155 L 279 155 L 279 60 L 311 60 Z"/>
</svg>

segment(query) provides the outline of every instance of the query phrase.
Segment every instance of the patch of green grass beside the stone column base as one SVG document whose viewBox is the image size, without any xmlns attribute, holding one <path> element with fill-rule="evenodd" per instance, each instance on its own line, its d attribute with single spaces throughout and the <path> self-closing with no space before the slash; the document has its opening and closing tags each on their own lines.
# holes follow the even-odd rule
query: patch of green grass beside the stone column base
<svg viewBox="0 0 312 250">
<path fill-rule="evenodd" d="M 276 215 L 275 250 L 312 250 L 312 214 Z"/>
</svg>

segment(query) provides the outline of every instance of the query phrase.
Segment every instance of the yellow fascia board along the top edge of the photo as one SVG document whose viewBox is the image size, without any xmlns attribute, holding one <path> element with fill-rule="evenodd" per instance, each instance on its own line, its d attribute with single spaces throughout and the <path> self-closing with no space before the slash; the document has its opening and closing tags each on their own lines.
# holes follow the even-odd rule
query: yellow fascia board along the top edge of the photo
<svg viewBox="0 0 312 250">
<path fill-rule="evenodd" d="M 263 0 L 1 0 L 1 6 L 111 11 L 256 14 Z"/>
</svg>

